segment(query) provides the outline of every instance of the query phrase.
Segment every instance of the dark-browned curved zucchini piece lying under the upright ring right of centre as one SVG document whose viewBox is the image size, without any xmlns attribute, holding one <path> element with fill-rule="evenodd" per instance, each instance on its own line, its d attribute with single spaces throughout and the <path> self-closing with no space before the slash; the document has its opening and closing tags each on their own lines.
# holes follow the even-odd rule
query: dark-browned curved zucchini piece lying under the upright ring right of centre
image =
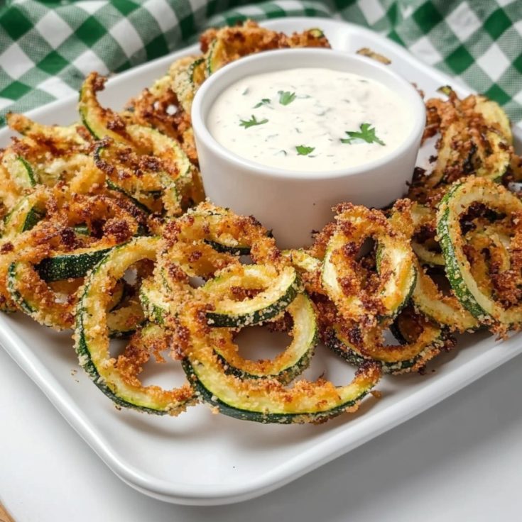
<svg viewBox="0 0 522 522">
<path fill-rule="evenodd" d="M 414 328 L 410 329 L 413 323 Z M 420 370 L 451 343 L 444 328 L 418 316 L 410 309 L 401 312 L 391 331 L 396 333 L 399 345 L 384 345 L 381 327 L 361 331 L 359 326 L 348 329 L 334 325 L 325 333 L 325 343 L 332 352 L 353 365 L 374 360 L 389 374 L 403 374 Z"/>
</svg>

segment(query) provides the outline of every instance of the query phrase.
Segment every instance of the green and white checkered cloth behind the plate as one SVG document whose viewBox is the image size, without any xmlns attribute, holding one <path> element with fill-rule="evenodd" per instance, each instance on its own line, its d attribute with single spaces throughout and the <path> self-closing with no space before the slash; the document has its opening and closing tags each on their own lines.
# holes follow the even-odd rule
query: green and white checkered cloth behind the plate
<svg viewBox="0 0 522 522">
<path fill-rule="evenodd" d="M 342 18 L 387 35 L 522 120 L 522 0 L 0 0 L 0 126 L 246 18 Z"/>
</svg>

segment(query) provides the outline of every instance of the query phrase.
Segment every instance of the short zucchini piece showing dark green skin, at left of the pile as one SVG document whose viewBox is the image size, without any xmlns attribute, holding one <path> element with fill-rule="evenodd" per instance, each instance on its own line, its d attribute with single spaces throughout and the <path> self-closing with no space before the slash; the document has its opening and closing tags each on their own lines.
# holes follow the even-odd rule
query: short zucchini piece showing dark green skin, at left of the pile
<svg viewBox="0 0 522 522">
<path fill-rule="evenodd" d="M 65 252 L 47 257 L 36 265 L 40 277 L 47 282 L 60 281 L 76 277 L 85 277 L 112 247 L 78 248 L 72 252 Z"/>
</svg>

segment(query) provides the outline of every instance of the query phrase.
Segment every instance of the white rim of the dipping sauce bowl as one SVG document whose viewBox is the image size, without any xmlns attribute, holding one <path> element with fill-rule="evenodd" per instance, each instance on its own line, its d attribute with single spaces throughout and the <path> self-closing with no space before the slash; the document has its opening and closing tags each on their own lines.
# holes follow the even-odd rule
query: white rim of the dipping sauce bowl
<svg viewBox="0 0 522 522">
<path fill-rule="evenodd" d="M 401 145 L 397 148 L 388 152 L 388 154 L 379 157 L 376 160 L 371 160 L 369 162 L 363 163 L 361 165 L 357 165 L 354 167 L 344 167 L 343 169 L 335 169 L 335 170 L 317 170 L 317 171 L 302 171 L 302 170 L 288 170 L 288 169 L 280 169 L 277 167 L 271 167 L 268 165 L 263 165 L 262 163 L 257 163 L 251 160 L 246 159 L 245 157 L 241 157 L 236 155 L 231 150 L 221 145 L 210 133 L 209 128 L 207 127 L 207 114 L 203 114 L 202 104 L 205 100 L 206 96 L 214 96 L 215 99 L 219 92 L 222 91 L 220 89 L 218 92 L 214 93 L 214 89 L 216 89 L 216 85 L 219 85 L 222 78 L 229 75 L 230 72 L 241 70 L 245 67 L 249 67 L 252 62 L 259 62 L 259 70 L 249 72 L 249 76 L 253 74 L 263 74 L 263 72 L 272 72 L 277 70 L 274 67 L 270 67 L 269 65 L 273 60 L 276 60 L 276 57 L 284 57 L 288 55 L 301 55 L 301 56 L 310 56 L 316 59 L 321 55 L 328 54 L 329 56 L 335 56 L 339 60 L 348 60 L 352 63 L 360 63 L 364 64 L 365 67 L 374 68 L 377 71 L 384 72 L 388 77 L 391 77 L 399 84 L 403 85 L 403 89 L 406 93 L 408 90 L 411 94 L 410 96 L 406 94 L 406 96 L 401 96 L 407 104 L 411 106 L 411 112 L 413 116 L 413 125 L 410 130 L 410 133 L 406 136 L 405 140 Z M 263 64 L 268 62 L 268 67 L 263 67 Z M 314 68 L 321 67 L 319 64 L 312 63 L 310 65 L 296 65 L 297 67 L 303 68 Z M 322 66 L 324 67 L 324 66 Z M 326 69 L 330 67 L 325 67 Z M 357 73 L 356 73 L 357 74 Z M 369 76 L 371 78 L 371 76 Z M 233 84 L 235 81 L 230 82 Z M 376 82 L 383 83 L 381 80 L 376 79 Z M 228 87 L 228 85 L 227 85 Z M 417 107 L 415 107 L 415 105 Z M 364 174 L 370 170 L 379 169 L 379 167 L 385 167 L 388 163 L 393 162 L 398 157 L 401 157 L 405 152 L 407 152 L 410 148 L 416 147 L 418 148 L 420 143 L 420 138 L 423 134 L 425 128 L 425 104 L 420 93 L 413 87 L 413 85 L 408 82 L 405 78 L 403 78 L 400 74 L 397 74 L 393 70 L 390 70 L 387 65 L 383 65 L 369 57 L 362 57 L 355 53 L 350 53 L 346 51 L 333 50 L 330 48 L 293 48 L 293 49 L 276 49 L 258 52 L 254 55 L 249 55 L 246 57 L 241 57 L 239 60 L 235 60 L 220 70 L 212 74 L 210 77 L 205 79 L 205 82 L 202 83 L 199 89 L 197 89 L 195 97 L 192 101 L 192 110 L 191 110 L 191 120 L 192 120 L 192 128 L 195 134 L 196 140 L 196 148 L 197 142 L 202 140 L 205 145 L 207 145 L 214 155 L 219 156 L 222 160 L 227 161 L 236 165 L 241 170 L 248 170 L 251 173 L 264 175 L 267 177 L 277 177 L 277 178 L 288 178 L 288 179 L 300 179 L 300 180 L 312 180 L 312 179 L 335 179 L 339 177 L 350 177 L 358 174 Z"/>
</svg>

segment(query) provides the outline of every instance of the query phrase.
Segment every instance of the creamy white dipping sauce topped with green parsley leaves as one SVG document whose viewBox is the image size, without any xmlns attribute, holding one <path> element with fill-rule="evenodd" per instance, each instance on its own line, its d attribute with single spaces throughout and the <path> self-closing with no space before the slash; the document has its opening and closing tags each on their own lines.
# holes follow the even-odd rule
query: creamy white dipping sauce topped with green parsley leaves
<svg viewBox="0 0 522 522">
<path fill-rule="evenodd" d="M 247 160 L 317 172 L 388 155 L 410 133 L 413 114 L 384 84 L 310 67 L 232 84 L 214 101 L 207 126 L 218 143 Z"/>
</svg>

